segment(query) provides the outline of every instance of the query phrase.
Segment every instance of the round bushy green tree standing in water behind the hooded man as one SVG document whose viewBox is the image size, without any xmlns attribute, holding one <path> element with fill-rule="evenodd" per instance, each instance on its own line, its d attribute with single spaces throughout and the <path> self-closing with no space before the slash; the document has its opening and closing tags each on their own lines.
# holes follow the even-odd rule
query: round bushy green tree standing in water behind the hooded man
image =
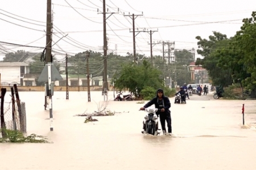
<svg viewBox="0 0 256 170">
<path fill-rule="evenodd" d="M 159 70 L 151 67 L 150 62 L 144 60 L 143 64 L 137 67 L 134 67 L 132 63 L 122 65 L 121 72 L 114 77 L 114 84 L 117 89 L 129 89 L 138 97 L 144 87 L 163 87 L 161 74 Z"/>
</svg>

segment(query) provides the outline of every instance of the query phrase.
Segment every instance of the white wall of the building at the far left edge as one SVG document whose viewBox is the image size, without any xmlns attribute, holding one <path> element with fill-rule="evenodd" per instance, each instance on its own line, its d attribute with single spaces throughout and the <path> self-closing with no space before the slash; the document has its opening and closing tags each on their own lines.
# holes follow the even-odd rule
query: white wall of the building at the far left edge
<svg viewBox="0 0 256 170">
<path fill-rule="evenodd" d="M 17 82 L 20 84 L 20 66 L 1 66 L 1 83 Z"/>
</svg>

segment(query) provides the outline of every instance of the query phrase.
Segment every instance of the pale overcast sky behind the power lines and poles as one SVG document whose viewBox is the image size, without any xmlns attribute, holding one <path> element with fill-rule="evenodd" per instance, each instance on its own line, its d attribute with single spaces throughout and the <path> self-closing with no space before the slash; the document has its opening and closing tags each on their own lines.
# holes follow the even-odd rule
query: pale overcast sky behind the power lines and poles
<svg viewBox="0 0 256 170">
<path fill-rule="evenodd" d="M 53 41 L 56 42 L 59 37 L 68 33 L 68 39 L 64 38 L 57 42 L 59 46 L 53 46 L 55 52 L 69 55 L 88 49 L 103 52 L 103 15 L 97 12 L 102 12 L 102 0 L 52 0 L 52 3 L 55 28 Z M 46 45 L 44 30 L 47 0 L 0 0 L 0 4 L 0 41 L 22 45 L 32 42 L 29 44 L 31 46 Z M 129 15 L 129 12 L 143 12 L 143 16 L 135 19 L 135 27 L 138 30 L 158 30 L 152 35 L 152 41 L 175 41 L 176 49 L 190 50 L 197 49 L 196 36 L 208 38 L 212 31 L 233 36 L 240 29 L 242 19 L 250 18 L 251 12 L 256 11 L 255 0 L 106 0 L 106 5 L 109 12 L 117 12 L 119 7 L 119 14 L 114 14 L 107 20 L 107 34 L 109 51 L 114 50 L 117 44 L 117 53 L 120 55 L 133 53 L 133 34 L 129 31 L 132 20 L 129 16 L 123 16 L 123 12 L 125 15 Z M 60 33 L 60 30 L 64 33 Z M 141 32 L 137 35 L 136 42 L 137 52 L 150 56 L 150 35 Z M 42 49 L 0 45 L 7 48 L 8 52 L 21 49 L 42 52 Z M 5 54 L 1 48 L 0 56 L 3 57 Z M 153 54 L 162 55 L 160 50 L 162 45 L 155 45 Z"/>
</svg>

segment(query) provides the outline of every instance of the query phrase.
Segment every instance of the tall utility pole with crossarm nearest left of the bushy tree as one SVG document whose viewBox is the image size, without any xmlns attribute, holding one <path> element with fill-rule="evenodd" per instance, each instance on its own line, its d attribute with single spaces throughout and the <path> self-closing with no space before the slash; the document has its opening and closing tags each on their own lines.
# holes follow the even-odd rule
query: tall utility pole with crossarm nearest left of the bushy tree
<svg viewBox="0 0 256 170">
<path fill-rule="evenodd" d="M 119 8 L 118 8 L 119 11 Z M 103 45 L 103 50 L 104 50 L 104 57 L 103 57 L 103 62 L 104 62 L 104 72 L 103 72 L 103 90 L 104 90 L 104 100 L 105 100 L 105 95 L 107 95 L 107 90 L 108 90 L 108 42 L 106 39 L 106 20 L 113 14 L 118 14 L 119 12 L 106 12 L 106 2 L 103 0 L 103 12 L 98 13 L 98 14 L 103 14 L 103 38 L 104 38 L 104 45 Z M 108 18 L 106 18 L 106 14 L 110 14 Z"/>
</svg>

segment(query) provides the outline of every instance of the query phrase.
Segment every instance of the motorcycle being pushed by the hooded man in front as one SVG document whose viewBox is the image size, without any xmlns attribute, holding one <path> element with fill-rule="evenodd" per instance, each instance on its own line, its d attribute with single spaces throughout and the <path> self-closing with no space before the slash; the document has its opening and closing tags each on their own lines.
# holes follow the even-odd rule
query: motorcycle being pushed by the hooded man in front
<svg viewBox="0 0 256 170">
<path fill-rule="evenodd" d="M 146 108 L 145 111 L 148 113 L 144 117 L 145 119 L 143 121 L 144 131 L 142 131 L 142 134 L 151 134 L 155 136 L 159 135 L 161 129 L 158 129 L 158 116 L 156 115 L 156 112 L 158 111 L 158 109 Z"/>
</svg>

